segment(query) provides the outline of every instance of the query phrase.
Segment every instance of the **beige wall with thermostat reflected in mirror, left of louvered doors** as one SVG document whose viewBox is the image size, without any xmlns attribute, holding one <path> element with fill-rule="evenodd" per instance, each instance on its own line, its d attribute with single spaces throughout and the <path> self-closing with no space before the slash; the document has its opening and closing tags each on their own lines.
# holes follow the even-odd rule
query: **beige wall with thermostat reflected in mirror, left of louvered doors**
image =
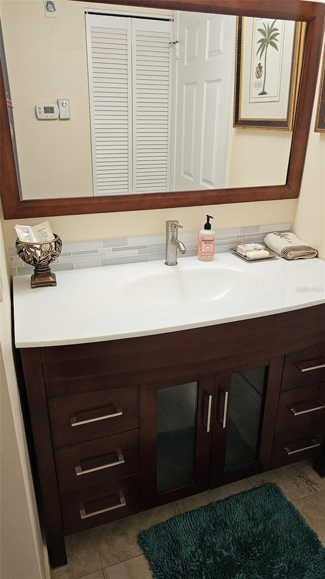
<svg viewBox="0 0 325 579">
<path fill-rule="evenodd" d="M 45 17 L 39 0 L 0 3 L 24 199 L 45 198 L 47 193 L 81 197 L 92 189 L 89 107 L 83 90 L 87 58 L 77 34 L 82 25 L 73 37 L 68 34 L 71 20 L 78 23 L 83 17 L 83 5 L 59 3 L 56 19 Z M 46 49 L 37 51 L 36 46 Z M 38 122 L 35 105 L 57 98 L 71 99 L 71 120 Z"/>
</svg>

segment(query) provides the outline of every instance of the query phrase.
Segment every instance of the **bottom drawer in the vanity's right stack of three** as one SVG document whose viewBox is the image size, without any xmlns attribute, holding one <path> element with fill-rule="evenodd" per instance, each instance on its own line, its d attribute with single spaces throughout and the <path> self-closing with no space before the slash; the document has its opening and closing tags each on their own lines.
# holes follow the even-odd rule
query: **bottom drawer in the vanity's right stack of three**
<svg viewBox="0 0 325 579">
<path fill-rule="evenodd" d="M 325 422 L 308 424 L 278 433 L 274 437 L 271 466 L 277 468 L 296 463 L 322 452 Z"/>
</svg>

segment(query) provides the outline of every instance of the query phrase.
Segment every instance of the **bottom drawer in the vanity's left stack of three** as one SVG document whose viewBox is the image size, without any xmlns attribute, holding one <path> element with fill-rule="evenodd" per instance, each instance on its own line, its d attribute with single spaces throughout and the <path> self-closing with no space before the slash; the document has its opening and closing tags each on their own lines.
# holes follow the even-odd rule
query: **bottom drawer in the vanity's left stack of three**
<svg viewBox="0 0 325 579">
<path fill-rule="evenodd" d="M 64 534 L 70 535 L 140 511 L 140 477 L 119 479 L 62 494 Z"/>
</svg>

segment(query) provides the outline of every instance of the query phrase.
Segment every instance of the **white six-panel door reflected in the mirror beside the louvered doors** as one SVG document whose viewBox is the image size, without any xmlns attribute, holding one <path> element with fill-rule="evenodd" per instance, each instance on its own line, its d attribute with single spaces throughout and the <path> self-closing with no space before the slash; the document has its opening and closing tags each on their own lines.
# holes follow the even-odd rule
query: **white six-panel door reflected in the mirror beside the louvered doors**
<svg viewBox="0 0 325 579">
<path fill-rule="evenodd" d="M 226 185 L 236 19 L 178 12 L 175 190 Z"/>
</svg>

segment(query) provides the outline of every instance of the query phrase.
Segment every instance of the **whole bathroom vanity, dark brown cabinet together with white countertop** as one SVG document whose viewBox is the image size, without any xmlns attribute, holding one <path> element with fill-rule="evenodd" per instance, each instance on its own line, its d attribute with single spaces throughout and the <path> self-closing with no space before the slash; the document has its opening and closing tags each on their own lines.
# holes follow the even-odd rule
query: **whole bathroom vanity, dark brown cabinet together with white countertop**
<svg viewBox="0 0 325 579">
<path fill-rule="evenodd" d="M 302 459 L 325 475 L 324 280 L 230 254 L 14 278 L 53 567 L 64 535 Z"/>
</svg>

